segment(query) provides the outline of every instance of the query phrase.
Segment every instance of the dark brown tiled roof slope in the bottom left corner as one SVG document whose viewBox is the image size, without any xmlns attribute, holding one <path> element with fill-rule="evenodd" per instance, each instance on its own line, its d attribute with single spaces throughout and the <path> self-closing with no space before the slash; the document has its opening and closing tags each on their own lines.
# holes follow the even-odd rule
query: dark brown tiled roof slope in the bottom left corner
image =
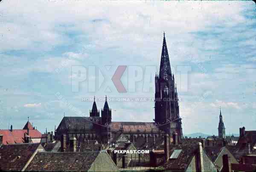
<svg viewBox="0 0 256 172">
<path fill-rule="evenodd" d="M 40 144 L 7 144 L 0 147 L 0 168 L 20 171 Z"/>
</svg>

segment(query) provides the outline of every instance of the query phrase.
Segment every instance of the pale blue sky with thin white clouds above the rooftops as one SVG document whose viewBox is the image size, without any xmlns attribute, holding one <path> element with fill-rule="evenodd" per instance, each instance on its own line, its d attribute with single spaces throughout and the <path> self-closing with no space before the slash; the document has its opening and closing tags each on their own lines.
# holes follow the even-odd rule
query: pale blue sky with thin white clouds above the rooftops
<svg viewBox="0 0 256 172">
<path fill-rule="evenodd" d="M 242 126 L 256 130 L 255 13 L 253 1 L 2 0 L 0 129 L 20 129 L 29 116 L 42 133 L 53 131 L 63 112 L 80 115 L 72 107 L 89 116 L 93 102 L 82 98 L 96 96 L 101 109 L 105 95 L 134 100 L 108 102 L 112 121 L 152 121 L 149 98 L 165 32 L 183 133 L 216 135 L 220 107 L 226 134 Z M 75 58 L 67 63 L 70 56 Z M 121 78 L 127 93 L 111 81 L 120 65 L 128 66 Z M 83 73 L 76 66 L 87 69 L 79 84 Z M 95 74 L 88 66 L 95 66 Z M 187 76 L 179 66 L 191 69 Z M 128 81 L 134 69 L 136 85 Z M 95 92 L 94 82 L 88 83 L 93 79 Z"/>
</svg>

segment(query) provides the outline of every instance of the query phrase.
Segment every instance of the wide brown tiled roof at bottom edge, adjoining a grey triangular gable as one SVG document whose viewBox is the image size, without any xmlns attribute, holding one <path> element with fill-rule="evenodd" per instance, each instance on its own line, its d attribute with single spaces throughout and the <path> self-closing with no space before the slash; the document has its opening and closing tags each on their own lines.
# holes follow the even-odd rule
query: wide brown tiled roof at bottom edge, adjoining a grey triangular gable
<svg viewBox="0 0 256 172">
<path fill-rule="evenodd" d="M 26 171 L 86 172 L 99 155 L 94 152 L 38 152 Z"/>
</svg>

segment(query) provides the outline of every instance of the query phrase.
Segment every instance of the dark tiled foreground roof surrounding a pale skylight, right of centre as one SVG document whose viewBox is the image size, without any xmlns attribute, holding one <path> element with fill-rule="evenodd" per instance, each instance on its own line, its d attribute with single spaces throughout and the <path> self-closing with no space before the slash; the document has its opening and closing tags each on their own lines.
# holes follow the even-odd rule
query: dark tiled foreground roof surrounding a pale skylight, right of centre
<svg viewBox="0 0 256 172">
<path fill-rule="evenodd" d="M 172 170 L 184 170 L 189 165 L 190 161 L 192 160 L 195 153 L 198 151 L 197 146 L 193 145 L 180 145 L 170 146 L 170 155 L 174 152 L 174 150 L 180 149 L 182 150 L 178 157 L 176 159 L 169 159 L 167 163 L 165 163 L 163 166 L 166 169 L 172 169 Z"/>
</svg>

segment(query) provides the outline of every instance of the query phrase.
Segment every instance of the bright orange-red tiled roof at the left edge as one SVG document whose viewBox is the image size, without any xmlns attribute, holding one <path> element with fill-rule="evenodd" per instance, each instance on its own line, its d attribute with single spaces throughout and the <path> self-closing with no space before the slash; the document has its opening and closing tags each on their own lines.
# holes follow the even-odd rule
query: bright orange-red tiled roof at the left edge
<svg viewBox="0 0 256 172">
<path fill-rule="evenodd" d="M 27 130 L 0 130 L 3 135 L 3 144 L 24 143 L 24 134 Z M 38 130 L 29 130 L 31 138 L 41 138 L 42 134 Z"/>
</svg>

